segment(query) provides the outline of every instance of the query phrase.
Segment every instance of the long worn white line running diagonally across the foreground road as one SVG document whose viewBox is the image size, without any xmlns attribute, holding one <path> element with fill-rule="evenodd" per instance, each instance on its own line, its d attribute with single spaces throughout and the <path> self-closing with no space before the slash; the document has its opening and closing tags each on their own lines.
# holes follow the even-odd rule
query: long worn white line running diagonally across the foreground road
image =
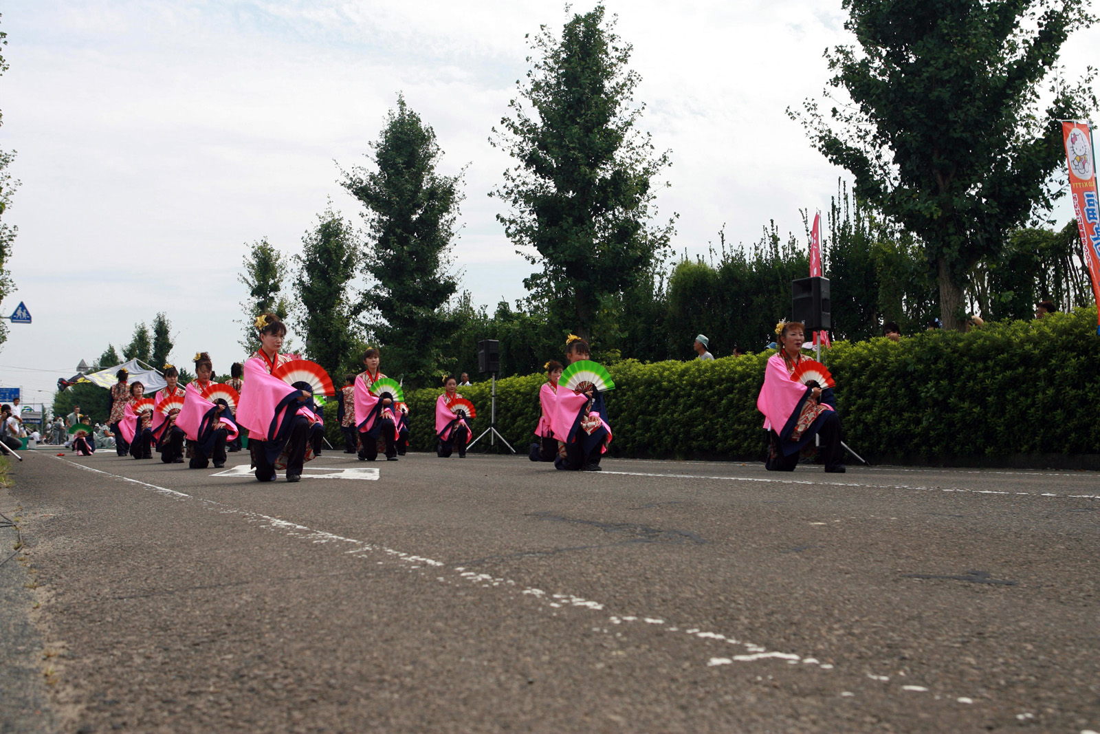
<svg viewBox="0 0 1100 734">
<path fill-rule="evenodd" d="M 206 499 L 202 499 L 202 497 L 196 497 L 194 495 L 186 494 L 184 492 L 178 492 L 176 490 L 169 490 L 167 487 L 158 486 L 156 484 L 150 484 L 148 482 L 142 482 L 142 481 L 136 480 L 136 479 L 130 479 L 129 476 L 123 476 L 122 474 L 114 474 L 112 472 L 103 471 L 101 469 L 94 469 L 92 467 L 86 467 L 84 464 L 79 464 L 79 463 L 77 463 L 75 461 L 70 461 L 70 460 L 62 458 L 62 457 L 55 457 L 55 458 L 58 458 L 62 461 L 64 461 L 65 463 L 72 464 L 72 465 L 74 465 L 74 467 L 76 467 L 78 469 L 82 469 L 85 471 L 90 471 L 90 472 L 95 472 L 97 474 L 103 474 L 103 475 L 107 475 L 107 476 L 112 476 L 114 479 L 120 479 L 120 480 L 122 480 L 124 482 L 129 482 L 131 484 L 136 484 L 139 486 L 147 487 L 147 489 L 152 490 L 153 492 L 156 492 L 157 494 L 161 494 L 163 496 L 167 496 L 167 497 L 169 497 L 172 500 L 176 500 L 176 501 L 179 501 L 179 502 L 195 501 L 195 502 L 198 502 L 204 507 L 206 507 L 207 510 L 211 510 L 211 511 L 217 512 L 219 514 L 240 515 L 241 517 L 243 517 L 245 521 L 248 521 L 250 523 L 258 523 L 262 526 L 266 526 L 266 527 L 268 527 L 271 529 L 282 530 L 282 532 L 284 532 L 286 535 L 288 535 L 290 537 L 304 538 L 304 539 L 309 540 L 310 543 L 318 544 L 318 545 L 334 544 L 334 545 L 342 545 L 342 546 L 352 546 L 349 550 L 345 550 L 343 552 L 346 554 L 346 555 L 353 556 L 355 558 L 369 560 L 369 557 L 372 554 L 384 554 L 384 555 L 391 557 L 392 559 L 396 559 L 398 562 L 409 565 L 409 570 L 420 569 L 421 566 L 429 566 L 429 567 L 433 567 L 436 569 L 442 569 L 444 567 L 444 563 L 442 561 L 433 560 L 431 558 L 426 558 L 426 557 L 422 557 L 422 556 L 416 556 L 416 555 L 413 555 L 413 554 L 408 554 L 408 552 L 404 552 L 404 551 L 400 551 L 400 550 L 396 550 L 394 548 L 387 548 L 385 546 L 381 546 L 381 545 L 375 545 L 375 544 L 372 544 L 372 543 L 367 543 L 365 540 L 358 540 L 355 538 L 348 538 L 348 537 L 343 537 L 343 536 L 340 536 L 340 535 L 334 535 L 332 533 L 327 533 L 324 530 L 315 530 L 315 529 L 312 529 L 310 527 L 307 527 L 305 525 L 299 525 L 297 523 L 292 523 L 289 521 L 285 521 L 285 519 L 278 518 L 278 517 L 272 517 L 270 515 L 264 515 L 262 513 L 257 513 L 257 512 L 254 512 L 254 511 L 251 511 L 251 510 L 240 510 L 240 508 L 237 508 L 237 507 L 231 507 L 231 506 L 229 506 L 229 505 L 227 505 L 224 503 L 217 502 L 215 500 L 206 500 Z M 382 565 L 382 561 L 377 561 L 377 563 Z M 512 579 L 497 578 L 497 577 L 493 577 L 493 576 L 491 576 L 488 573 L 476 573 L 474 571 L 469 571 L 469 570 L 466 570 L 463 567 L 454 567 L 453 571 L 457 572 L 458 576 L 454 577 L 452 574 L 451 579 L 448 579 L 444 576 L 437 576 L 435 578 L 436 578 L 437 581 L 440 581 L 440 582 L 443 582 L 443 583 L 449 583 L 449 584 L 458 584 L 458 583 L 460 583 L 462 581 L 468 581 L 468 582 L 475 583 L 475 584 L 477 584 L 480 587 L 483 587 L 483 588 L 499 587 L 499 585 L 504 585 L 505 588 L 512 587 L 513 589 L 519 591 L 519 595 L 532 598 L 532 599 L 537 600 L 538 602 L 543 603 L 543 604 L 546 604 L 547 606 L 549 606 L 551 609 L 561 609 L 563 606 L 573 606 L 573 607 L 587 609 L 587 610 L 594 611 L 594 612 L 605 612 L 606 611 L 604 604 L 602 604 L 600 602 L 596 602 L 596 601 L 583 599 L 581 596 L 575 596 L 575 595 L 572 595 L 572 594 L 562 594 L 562 593 L 548 594 L 547 592 L 542 591 L 541 589 L 536 589 L 536 588 L 532 588 L 532 587 L 522 587 L 521 584 L 517 583 L 516 581 L 514 581 Z M 436 572 L 439 572 L 439 571 L 436 571 Z M 425 573 L 424 570 L 418 570 L 418 573 L 420 576 L 427 577 L 427 574 Z M 556 612 L 551 612 L 551 613 L 552 614 L 557 614 Z M 646 625 L 664 625 L 666 624 L 664 620 L 661 620 L 661 618 L 658 618 L 658 617 L 635 616 L 635 615 L 629 615 L 629 616 L 615 616 L 615 615 L 610 615 L 610 616 L 607 617 L 607 621 L 610 622 L 614 625 L 620 625 L 624 622 L 626 622 L 626 623 L 641 622 L 642 624 L 646 624 Z M 734 656 L 730 656 L 728 658 L 713 657 L 707 662 L 707 666 L 733 665 L 735 661 L 738 661 L 738 662 L 751 662 L 751 661 L 757 661 L 757 660 L 778 659 L 778 660 L 785 660 L 790 665 L 799 665 L 800 662 L 804 664 L 804 665 L 814 665 L 814 666 L 817 666 L 818 669 L 821 669 L 821 670 L 832 670 L 832 669 L 834 669 L 834 666 L 832 664 L 820 662 L 816 658 L 811 657 L 811 656 L 800 656 L 800 655 L 795 655 L 793 653 L 779 653 L 779 651 L 774 651 L 774 650 L 768 650 L 763 646 L 756 645 L 756 644 L 749 643 L 749 642 L 743 642 L 743 640 L 739 640 L 739 639 L 735 639 L 732 636 L 726 636 L 726 635 L 722 635 L 722 634 L 714 633 L 714 632 L 701 631 L 698 628 L 686 629 L 686 628 L 682 628 L 680 626 L 673 626 L 673 625 L 662 626 L 662 628 L 666 632 L 669 632 L 669 633 L 672 633 L 672 634 L 685 634 L 685 635 L 688 635 L 690 637 L 696 637 L 696 638 L 701 638 L 701 639 L 714 639 L 714 640 L 717 640 L 717 642 L 725 643 L 727 645 L 739 646 L 739 647 L 743 647 L 743 648 L 745 648 L 745 649 L 748 650 L 747 655 L 734 655 Z M 606 629 L 604 629 L 604 632 L 607 633 Z M 608 634 L 610 634 L 610 633 L 608 633 Z M 902 690 L 927 691 L 928 689 L 924 688 L 922 686 L 903 686 Z M 958 699 L 958 700 L 961 701 L 963 699 Z"/>
</svg>

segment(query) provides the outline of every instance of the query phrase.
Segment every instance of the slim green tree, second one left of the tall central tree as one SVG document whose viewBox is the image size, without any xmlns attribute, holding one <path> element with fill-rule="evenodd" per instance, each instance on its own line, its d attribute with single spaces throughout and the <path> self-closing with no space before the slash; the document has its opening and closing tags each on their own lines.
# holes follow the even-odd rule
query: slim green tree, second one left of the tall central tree
<svg viewBox="0 0 1100 734">
<path fill-rule="evenodd" d="M 298 324 L 306 354 L 340 381 L 344 370 L 358 366 L 354 320 L 361 306 L 351 298 L 349 284 L 358 266 L 355 234 L 331 202 L 318 216 L 316 228 L 301 238 L 302 253 L 295 255 Z"/>
</svg>

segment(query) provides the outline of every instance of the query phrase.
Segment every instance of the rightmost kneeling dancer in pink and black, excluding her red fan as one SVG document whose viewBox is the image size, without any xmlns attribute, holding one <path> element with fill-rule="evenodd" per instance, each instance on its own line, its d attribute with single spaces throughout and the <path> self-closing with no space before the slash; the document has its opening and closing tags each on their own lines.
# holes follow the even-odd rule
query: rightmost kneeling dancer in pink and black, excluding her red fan
<svg viewBox="0 0 1100 734">
<path fill-rule="evenodd" d="M 763 386 L 757 398 L 757 409 L 765 415 L 768 431 L 769 471 L 794 471 L 802 449 L 813 447 L 814 436 L 821 436 L 825 471 L 842 473 L 844 447 L 840 446 L 840 417 L 832 387 L 822 390 L 814 382 L 803 384 L 791 379 L 802 362 L 805 327 L 799 321 L 781 321 L 776 327 L 779 353 L 768 358 Z"/>
</svg>

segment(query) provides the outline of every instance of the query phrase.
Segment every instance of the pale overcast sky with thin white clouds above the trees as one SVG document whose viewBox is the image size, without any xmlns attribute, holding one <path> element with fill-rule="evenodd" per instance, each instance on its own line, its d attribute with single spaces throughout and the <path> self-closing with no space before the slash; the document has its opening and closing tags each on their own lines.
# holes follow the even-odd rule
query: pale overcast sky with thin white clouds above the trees
<svg viewBox="0 0 1100 734">
<path fill-rule="evenodd" d="M 573 4 L 586 12 L 591 2 Z M 641 127 L 671 150 L 663 218 L 673 247 L 703 252 L 726 226 L 751 242 L 774 219 L 825 208 L 842 172 L 806 143 L 788 106 L 817 96 L 826 46 L 848 41 L 840 0 L 608 0 L 642 77 Z M 34 322 L 10 326 L 0 385 L 51 401 L 136 321 L 165 311 L 173 359 L 239 348 L 237 276 L 248 243 L 283 252 L 328 200 L 359 223 L 338 165 L 360 165 L 398 91 L 436 130 L 443 173 L 469 165 L 454 253 L 476 304 L 525 295 L 487 193 L 509 160 L 488 144 L 529 64 L 525 34 L 560 30 L 564 4 L 510 0 L 4 0 L 11 68 L 0 78 L 0 149 L 22 180 L 10 271 Z M 1065 47 L 1070 77 L 1100 32 Z M 1063 212 L 1063 220 L 1068 213 Z M 685 351 L 685 358 L 690 357 Z M 36 392 L 32 392 L 36 391 Z"/>
</svg>

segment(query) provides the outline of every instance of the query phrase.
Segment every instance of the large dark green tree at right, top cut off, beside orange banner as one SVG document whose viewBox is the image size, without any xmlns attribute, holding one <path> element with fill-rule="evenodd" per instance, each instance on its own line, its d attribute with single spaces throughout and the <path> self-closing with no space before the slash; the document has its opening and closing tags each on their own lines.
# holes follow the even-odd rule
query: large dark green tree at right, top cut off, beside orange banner
<svg viewBox="0 0 1100 734">
<path fill-rule="evenodd" d="M 855 194 L 900 222 L 936 273 L 945 328 L 960 328 L 974 265 L 1046 210 L 1063 160 L 1059 119 L 1096 106 L 1060 77 L 1038 86 L 1069 33 L 1091 22 L 1084 0 L 844 0 L 855 46 L 826 52 L 850 100 L 805 102 L 814 145 L 855 176 Z M 825 97 L 832 99 L 826 90 Z"/>
</svg>

